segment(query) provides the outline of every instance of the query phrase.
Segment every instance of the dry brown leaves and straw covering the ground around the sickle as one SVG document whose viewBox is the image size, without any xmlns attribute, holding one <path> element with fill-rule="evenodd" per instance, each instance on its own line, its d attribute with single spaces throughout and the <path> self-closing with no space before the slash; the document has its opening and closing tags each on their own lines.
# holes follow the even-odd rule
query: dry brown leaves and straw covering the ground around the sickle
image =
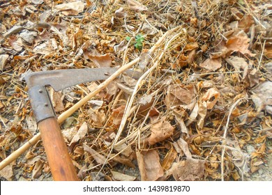
<svg viewBox="0 0 272 195">
<path fill-rule="evenodd" d="M 61 125 L 81 180 L 258 173 L 272 152 L 271 14 L 265 0 L 1 1 L 0 159 L 38 132 L 24 73 L 139 59 L 139 80 L 121 76 Z M 99 83 L 50 90 L 56 113 Z M 52 180 L 43 143 L 0 174 Z"/>
</svg>

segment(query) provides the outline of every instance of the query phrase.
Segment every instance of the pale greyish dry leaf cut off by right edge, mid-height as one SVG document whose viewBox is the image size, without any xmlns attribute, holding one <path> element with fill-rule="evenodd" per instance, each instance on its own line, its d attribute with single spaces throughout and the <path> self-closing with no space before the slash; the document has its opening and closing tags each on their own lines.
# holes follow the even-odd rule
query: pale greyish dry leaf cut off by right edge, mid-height
<svg viewBox="0 0 272 195">
<path fill-rule="evenodd" d="M 266 81 L 251 91 L 252 101 L 255 104 L 257 112 L 262 111 L 262 109 L 269 109 L 268 103 L 272 97 L 272 82 Z M 267 107 L 267 108 L 266 108 Z"/>
</svg>

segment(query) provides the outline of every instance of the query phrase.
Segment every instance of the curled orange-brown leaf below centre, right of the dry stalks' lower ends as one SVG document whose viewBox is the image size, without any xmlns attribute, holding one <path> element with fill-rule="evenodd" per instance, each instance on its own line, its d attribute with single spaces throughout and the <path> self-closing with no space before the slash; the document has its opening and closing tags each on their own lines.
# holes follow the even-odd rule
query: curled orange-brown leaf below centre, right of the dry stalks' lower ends
<svg viewBox="0 0 272 195">
<path fill-rule="evenodd" d="M 149 146 L 158 143 L 159 141 L 164 141 L 168 137 L 171 137 L 174 133 L 174 127 L 162 118 L 157 123 L 151 125 L 151 135 L 149 137 Z"/>
</svg>

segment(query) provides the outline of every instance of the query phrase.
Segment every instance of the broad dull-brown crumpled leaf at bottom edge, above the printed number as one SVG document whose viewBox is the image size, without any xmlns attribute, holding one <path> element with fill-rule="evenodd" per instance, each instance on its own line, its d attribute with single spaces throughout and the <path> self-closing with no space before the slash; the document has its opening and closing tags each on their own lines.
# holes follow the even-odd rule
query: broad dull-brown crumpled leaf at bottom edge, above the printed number
<svg viewBox="0 0 272 195">
<path fill-rule="evenodd" d="M 179 166 L 174 171 L 174 179 L 176 181 L 196 181 L 204 178 L 204 161 L 199 159 L 186 159 L 179 162 Z"/>
</svg>

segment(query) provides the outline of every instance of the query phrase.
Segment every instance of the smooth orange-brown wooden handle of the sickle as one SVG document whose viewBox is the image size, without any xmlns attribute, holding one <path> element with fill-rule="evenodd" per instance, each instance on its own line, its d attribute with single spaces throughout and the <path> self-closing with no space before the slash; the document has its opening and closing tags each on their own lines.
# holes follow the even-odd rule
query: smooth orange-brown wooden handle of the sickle
<svg viewBox="0 0 272 195">
<path fill-rule="evenodd" d="M 38 127 L 53 179 L 55 181 L 79 180 L 56 118 L 42 120 L 38 123 Z"/>
</svg>

